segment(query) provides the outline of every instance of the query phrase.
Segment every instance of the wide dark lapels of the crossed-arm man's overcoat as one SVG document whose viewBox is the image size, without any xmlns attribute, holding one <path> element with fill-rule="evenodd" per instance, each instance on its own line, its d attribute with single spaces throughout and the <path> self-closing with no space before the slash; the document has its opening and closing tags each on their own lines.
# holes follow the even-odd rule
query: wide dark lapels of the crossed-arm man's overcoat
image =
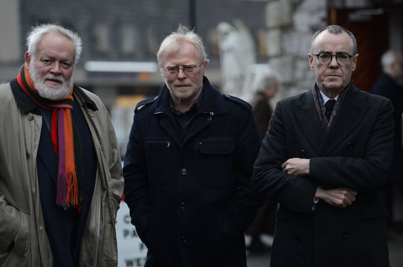
<svg viewBox="0 0 403 267">
<path fill-rule="evenodd" d="M 328 155 L 337 148 L 357 128 L 369 109 L 368 103 L 361 100 L 360 90 L 351 86 L 340 104 L 337 115 L 327 134 L 324 133 L 317 114 L 312 90 L 305 93 L 293 108 L 296 120 L 302 125 L 302 134 L 318 155 Z"/>
</svg>

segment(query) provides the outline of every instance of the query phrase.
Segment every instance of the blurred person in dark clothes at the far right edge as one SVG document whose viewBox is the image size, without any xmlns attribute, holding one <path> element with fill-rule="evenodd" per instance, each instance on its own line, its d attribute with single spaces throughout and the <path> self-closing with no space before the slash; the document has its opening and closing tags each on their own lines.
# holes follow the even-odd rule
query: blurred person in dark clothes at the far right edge
<svg viewBox="0 0 403 267">
<path fill-rule="evenodd" d="M 384 96 L 392 102 L 394 138 L 393 138 L 393 159 L 390 174 L 385 187 L 381 191 L 386 209 L 389 213 L 388 227 L 391 231 L 403 233 L 403 229 L 394 224 L 393 202 L 396 189 L 403 193 L 403 175 L 400 166 L 403 163 L 403 144 L 401 120 L 403 113 L 403 55 L 401 51 L 388 50 L 382 54 L 382 72 L 379 78 L 372 85 L 370 93 Z"/>
</svg>

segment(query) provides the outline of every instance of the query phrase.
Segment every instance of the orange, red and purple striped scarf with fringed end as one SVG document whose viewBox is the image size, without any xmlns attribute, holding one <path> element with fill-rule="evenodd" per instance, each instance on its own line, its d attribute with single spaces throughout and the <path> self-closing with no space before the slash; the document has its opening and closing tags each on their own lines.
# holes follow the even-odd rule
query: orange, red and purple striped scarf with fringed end
<svg viewBox="0 0 403 267">
<path fill-rule="evenodd" d="M 83 161 L 80 137 L 72 117 L 73 87 L 65 99 L 57 101 L 44 99 L 39 96 L 25 65 L 20 68 L 17 81 L 39 107 L 52 111 L 51 136 L 58 161 L 56 204 L 64 210 L 73 207 L 80 212 Z"/>
</svg>

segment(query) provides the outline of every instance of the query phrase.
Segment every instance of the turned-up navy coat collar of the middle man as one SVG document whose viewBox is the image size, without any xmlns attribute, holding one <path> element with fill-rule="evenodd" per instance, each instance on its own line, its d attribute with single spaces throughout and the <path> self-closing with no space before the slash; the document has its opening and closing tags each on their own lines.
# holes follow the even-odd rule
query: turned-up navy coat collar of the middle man
<svg viewBox="0 0 403 267">
<path fill-rule="evenodd" d="M 214 113 L 222 114 L 225 113 L 224 100 L 222 94 L 210 84 L 207 77 L 203 77 L 203 94 L 201 94 L 201 99 L 199 100 L 199 105 L 197 107 L 198 113 Z M 153 103 L 150 108 L 152 113 L 168 113 L 171 111 L 170 106 L 171 95 L 169 93 L 168 87 L 165 84 L 162 88 L 161 94 L 157 100 Z"/>
</svg>

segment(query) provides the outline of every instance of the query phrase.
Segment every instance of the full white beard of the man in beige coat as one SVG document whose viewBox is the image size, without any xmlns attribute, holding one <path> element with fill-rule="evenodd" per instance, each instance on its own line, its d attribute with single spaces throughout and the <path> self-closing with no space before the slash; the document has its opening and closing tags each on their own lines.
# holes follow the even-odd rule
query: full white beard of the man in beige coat
<svg viewBox="0 0 403 267">
<path fill-rule="evenodd" d="M 29 74 L 34 82 L 35 88 L 38 91 L 39 96 L 49 100 L 61 100 L 65 99 L 70 94 L 70 88 L 73 85 L 72 77 L 68 81 L 65 81 L 61 75 L 47 74 L 41 76 L 36 71 L 34 64 L 29 66 Z M 60 85 L 46 84 L 46 79 L 57 79 L 61 82 Z"/>
</svg>

